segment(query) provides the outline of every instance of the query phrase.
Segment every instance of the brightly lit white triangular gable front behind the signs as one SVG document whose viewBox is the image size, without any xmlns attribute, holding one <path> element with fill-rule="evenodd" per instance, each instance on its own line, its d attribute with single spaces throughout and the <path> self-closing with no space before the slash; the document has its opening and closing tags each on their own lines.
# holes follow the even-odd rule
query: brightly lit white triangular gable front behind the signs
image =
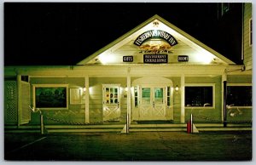
<svg viewBox="0 0 256 165">
<path fill-rule="evenodd" d="M 154 27 L 153 23 L 157 21 L 159 26 Z M 188 33 L 173 26 L 170 22 L 164 20 L 159 15 L 155 14 L 150 19 L 143 22 L 141 25 L 135 27 L 127 32 L 122 37 L 119 37 L 112 43 L 109 43 L 104 48 L 99 49 L 94 54 L 91 54 L 86 59 L 80 61 L 77 65 L 93 65 L 93 64 L 122 64 L 123 56 L 133 56 L 135 64 L 143 63 L 143 53 L 141 48 L 134 44 L 134 41 L 143 32 L 157 29 L 166 31 L 177 40 L 177 45 L 174 45 L 169 55 L 169 63 L 178 63 L 177 56 L 189 56 L 188 64 L 220 64 L 220 65 L 234 65 L 235 63 L 225 58 L 222 54 L 218 54 L 212 48 L 207 47 Z"/>
</svg>

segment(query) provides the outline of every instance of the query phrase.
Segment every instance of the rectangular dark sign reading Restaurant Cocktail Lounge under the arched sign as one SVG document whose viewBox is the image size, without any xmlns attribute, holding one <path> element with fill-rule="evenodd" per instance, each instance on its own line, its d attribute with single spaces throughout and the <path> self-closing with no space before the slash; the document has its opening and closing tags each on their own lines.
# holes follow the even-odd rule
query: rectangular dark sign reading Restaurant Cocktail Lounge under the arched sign
<svg viewBox="0 0 256 165">
<path fill-rule="evenodd" d="M 147 63 L 147 64 L 168 63 L 168 55 L 167 54 L 144 54 L 143 61 L 144 63 Z"/>
</svg>

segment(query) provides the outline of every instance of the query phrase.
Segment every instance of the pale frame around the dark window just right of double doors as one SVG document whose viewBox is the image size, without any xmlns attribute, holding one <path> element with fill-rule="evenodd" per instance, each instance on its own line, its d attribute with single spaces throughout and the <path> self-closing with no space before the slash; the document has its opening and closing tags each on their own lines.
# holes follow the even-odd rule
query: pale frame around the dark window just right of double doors
<svg viewBox="0 0 256 165">
<path fill-rule="evenodd" d="M 212 87 L 212 106 L 185 106 L 185 109 L 215 109 L 215 83 L 185 83 L 185 88 L 186 87 Z M 184 95 L 185 94 L 185 88 L 184 88 Z M 186 100 L 186 98 L 185 98 Z M 184 104 L 185 101 L 184 100 Z"/>
</svg>

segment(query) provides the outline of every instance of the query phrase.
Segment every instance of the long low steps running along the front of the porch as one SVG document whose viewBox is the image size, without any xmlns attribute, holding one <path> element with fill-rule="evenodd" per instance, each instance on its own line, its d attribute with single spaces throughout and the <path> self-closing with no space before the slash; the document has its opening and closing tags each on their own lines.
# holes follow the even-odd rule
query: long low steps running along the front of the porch
<svg viewBox="0 0 256 165">
<path fill-rule="evenodd" d="M 253 130 L 252 123 L 194 123 L 202 131 L 240 131 Z M 99 125 L 45 125 L 44 133 L 121 133 L 124 123 L 104 123 Z M 186 123 L 131 123 L 129 132 L 186 132 Z M 41 133 L 39 125 L 5 126 L 5 133 Z M 123 130 L 124 133 L 124 130 Z"/>
</svg>

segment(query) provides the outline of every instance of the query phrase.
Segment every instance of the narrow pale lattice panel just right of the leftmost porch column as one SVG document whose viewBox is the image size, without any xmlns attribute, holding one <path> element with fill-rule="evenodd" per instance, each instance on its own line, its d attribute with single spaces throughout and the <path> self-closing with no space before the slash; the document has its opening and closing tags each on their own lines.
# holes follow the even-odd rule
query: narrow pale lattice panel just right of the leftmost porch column
<svg viewBox="0 0 256 165">
<path fill-rule="evenodd" d="M 29 83 L 21 82 L 21 123 L 26 123 L 31 120 L 31 111 L 28 108 L 30 105 Z"/>
</svg>

